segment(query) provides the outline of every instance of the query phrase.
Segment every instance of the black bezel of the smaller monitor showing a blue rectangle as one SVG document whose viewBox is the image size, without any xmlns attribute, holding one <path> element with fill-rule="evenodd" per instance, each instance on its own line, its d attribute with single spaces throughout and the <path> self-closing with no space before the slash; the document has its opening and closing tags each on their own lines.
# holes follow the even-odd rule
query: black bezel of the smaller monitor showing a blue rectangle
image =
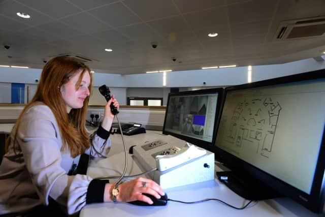
<svg viewBox="0 0 325 217">
<path fill-rule="evenodd" d="M 215 137 L 216 137 L 216 128 L 218 126 L 218 120 L 219 120 L 219 115 L 220 115 L 220 109 L 221 105 L 223 102 L 223 92 L 224 88 L 219 87 L 219 88 L 209 88 L 209 89 L 199 89 L 199 90 L 189 90 L 189 91 L 180 91 L 177 93 L 169 93 L 168 95 L 168 100 L 167 100 L 167 105 L 166 105 L 166 112 L 165 112 L 165 119 L 164 119 L 164 126 L 163 126 L 163 134 L 164 135 L 172 135 L 176 138 L 185 140 L 189 143 L 192 143 L 194 145 L 197 145 L 199 147 L 205 148 L 205 149 L 210 149 L 212 144 L 214 144 Z M 168 107 L 170 103 L 170 98 L 171 97 L 177 97 L 177 96 L 188 96 L 188 95 L 206 95 L 206 94 L 218 94 L 217 96 L 217 105 L 216 105 L 216 111 L 215 111 L 215 121 L 214 121 L 214 127 L 213 127 L 213 135 L 212 135 L 212 141 L 204 141 L 200 140 L 197 138 L 192 138 L 188 136 L 183 136 L 180 134 L 175 134 L 173 132 L 167 131 L 166 130 L 166 119 L 167 119 L 167 114 L 168 114 Z"/>
</svg>

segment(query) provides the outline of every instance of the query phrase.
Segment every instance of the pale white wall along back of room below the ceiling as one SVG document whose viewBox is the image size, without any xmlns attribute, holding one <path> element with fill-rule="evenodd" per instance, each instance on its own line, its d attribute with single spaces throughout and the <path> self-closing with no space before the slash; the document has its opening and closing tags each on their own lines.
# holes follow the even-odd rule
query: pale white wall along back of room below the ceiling
<svg viewBox="0 0 325 217">
<path fill-rule="evenodd" d="M 322 57 L 325 58 L 325 55 Z M 309 58 L 291 63 L 253 66 L 252 68 L 252 81 L 259 81 L 318 69 L 325 69 L 325 61 L 316 61 L 313 58 Z M 40 75 L 40 69 L 0 67 L 0 82 L 3 83 L 15 82 L 37 85 L 35 79 L 39 79 Z M 126 88 L 135 87 L 162 88 L 163 90 L 161 91 L 155 90 L 154 97 L 163 97 L 164 105 L 166 105 L 165 103 L 167 102 L 167 96 L 169 93 L 169 90 L 167 89 L 169 89 L 169 87 L 181 87 L 181 89 L 187 87 L 209 88 L 214 86 L 229 86 L 247 83 L 247 67 L 169 72 L 167 73 L 166 87 L 163 86 L 163 73 L 133 75 L 94 73 L 93 76 L 94 86 L 96 86 L 96 88 L 103 84 L 109 86 L 111 88 L 111 92 L 116 95 L 116 98 L 119 100 L 121 105 L 126 105 Z M 206 84 L 203 84 L 203 82 L 206 82 Z M 146 96 L 139 95 L 139 97 Z M 99 95 L 99 93 L 96 92 L 91 97 L 90 102 L 91 104 L 104 104 L 105 100 Z"/>
</svg>

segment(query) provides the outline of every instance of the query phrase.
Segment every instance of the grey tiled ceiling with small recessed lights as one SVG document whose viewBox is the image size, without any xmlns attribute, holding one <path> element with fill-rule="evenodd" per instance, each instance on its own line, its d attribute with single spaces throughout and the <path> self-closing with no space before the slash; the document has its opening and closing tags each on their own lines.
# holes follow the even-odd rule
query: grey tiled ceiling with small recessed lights
<svg viewBox="0 0 325 217">
<path fill-rule="evenodd" d="M 324 35 L 275 39 L 281 21 L 316 16 L 324 0 L 0 0 L 0 65 L 43 68 L 63 53 L 119 74 L 279 64 L 325 51 Z"/>
</svg>

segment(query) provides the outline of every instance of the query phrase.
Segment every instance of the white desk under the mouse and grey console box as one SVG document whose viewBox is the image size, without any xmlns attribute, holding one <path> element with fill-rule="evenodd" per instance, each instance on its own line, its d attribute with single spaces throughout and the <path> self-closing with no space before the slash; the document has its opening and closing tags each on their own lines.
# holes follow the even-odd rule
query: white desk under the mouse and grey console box
<svg viewBox="0 0 325 217">
<path fill-rule="evenodd" d="M 125 136 L 127 148 L 144 141 L 151 141 L 159 135 L 148 131 L 147 134 Z M 117 140 L 116 140 L 117 139 Z M 93 161 L 87 174 L 91 177 L 120 175 L 124 168 L 124 153 L 120 135 L 112 135 L 112 153 L 107 159 Z M 127 174 L 139 174 L 138 165 L 131 154 L 128 156 Z M 218 167 L 216 167 L 219 170 Z M 111 181 L 113 182 L 113 181 Z M 248 201 L 229 190 L 219 180 L 190 184 L 166 190 L 169 198 L 182 201 L 197 201 L 205 198 L 218 198 L 234 206 L 241 207 Z M 182 204 L 169 201 L 167 206 L 136 206 L 128 203 L 97 203 L 86 205 L 80 213 L 85 216 L 325 216 L 314 214 L 288 198 L 259 201 L 244 210 L 236 210 L 216 201 L 198 204 Z"/>
</svg>

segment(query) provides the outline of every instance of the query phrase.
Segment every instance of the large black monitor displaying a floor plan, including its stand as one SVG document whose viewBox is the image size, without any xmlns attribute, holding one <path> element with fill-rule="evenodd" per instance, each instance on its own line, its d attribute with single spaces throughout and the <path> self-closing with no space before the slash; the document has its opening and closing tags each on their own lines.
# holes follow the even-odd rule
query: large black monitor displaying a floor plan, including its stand
<svg viewBox="0 0 325 217">
<path fill-rule="evenodd" d="M 217 173 L 246 199 L 290 197 L 314 212 L 324 203 L 325 70 L 225 88 Z"/>
</svg>

